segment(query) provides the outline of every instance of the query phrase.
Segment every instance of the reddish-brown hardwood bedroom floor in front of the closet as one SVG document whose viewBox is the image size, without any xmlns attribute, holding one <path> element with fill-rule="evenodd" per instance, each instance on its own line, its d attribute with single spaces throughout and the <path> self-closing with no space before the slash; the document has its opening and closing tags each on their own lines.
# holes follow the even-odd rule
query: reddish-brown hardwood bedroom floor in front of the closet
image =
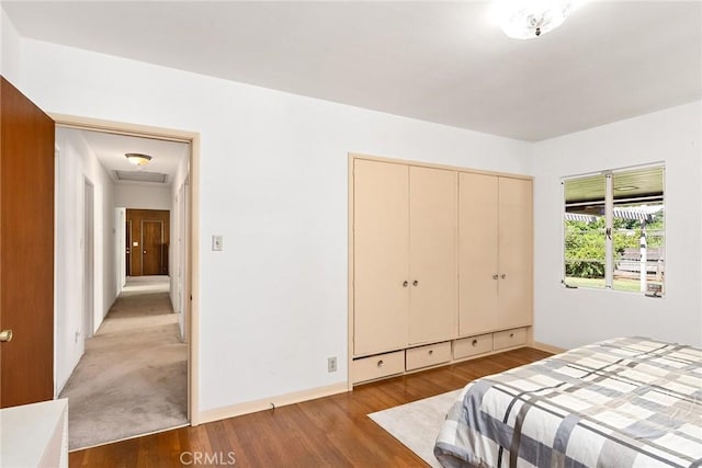
<svg viewBox="0 0 702 468">
<path fill-rule="evenodd" d="M 366 414 L 548 356 L 521 349 L 359 386 L 352 392 L 182 427 L 69 455 L 71 467 L 426 466 Z M 199 458 L 197 458 L 199 457 Z"/>
</svg>

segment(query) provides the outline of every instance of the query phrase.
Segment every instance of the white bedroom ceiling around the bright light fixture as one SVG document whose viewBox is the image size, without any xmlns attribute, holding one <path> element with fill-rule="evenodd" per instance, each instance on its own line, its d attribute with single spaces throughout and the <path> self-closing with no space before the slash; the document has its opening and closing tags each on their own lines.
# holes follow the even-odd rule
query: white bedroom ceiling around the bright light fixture
<svg viewBox="0 0 702 468">
<path fill-rule="evenodd" d="M 531 41 L 478 1 L 2 8 L 25 37 L 530 141 L 702 98 L 700 1 L 590 1 Z"/>
</svg>

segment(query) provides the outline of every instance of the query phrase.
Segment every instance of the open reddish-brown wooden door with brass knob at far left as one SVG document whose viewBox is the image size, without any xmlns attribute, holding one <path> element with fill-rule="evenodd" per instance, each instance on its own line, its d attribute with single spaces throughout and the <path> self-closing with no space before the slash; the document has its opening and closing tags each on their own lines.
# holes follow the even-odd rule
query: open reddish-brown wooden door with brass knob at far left
<svg viewBox="0 0 702 468">
<path fill-rule="evenodd" d="M 54 130 L 0 78 L 0 408 L 54 397 Z"/>
</svg>

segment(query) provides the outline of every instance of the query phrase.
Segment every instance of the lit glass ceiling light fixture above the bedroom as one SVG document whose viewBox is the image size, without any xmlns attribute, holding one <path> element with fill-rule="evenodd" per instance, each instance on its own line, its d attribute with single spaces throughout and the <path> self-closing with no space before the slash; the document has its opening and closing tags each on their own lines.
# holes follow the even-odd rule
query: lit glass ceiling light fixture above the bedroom
<svg viewBox="0 0 702 468">
<path fill-rule="evenodd" d="M 497 0 L 490 16 L 505 34 L 532 39 L 555 30 L 582 0 Z"/>
</svg>

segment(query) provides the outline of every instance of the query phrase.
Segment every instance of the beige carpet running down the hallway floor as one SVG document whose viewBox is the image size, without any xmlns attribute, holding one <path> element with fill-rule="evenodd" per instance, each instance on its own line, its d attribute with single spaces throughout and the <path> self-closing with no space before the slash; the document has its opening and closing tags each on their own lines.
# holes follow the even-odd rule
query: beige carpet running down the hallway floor
<svg viewBox="0 0 702 468">
<path fill-rule="evenodd" d="M 188 347 L 179 335 L 168 283 L 128 281 L 61 391 L 71 450 L 188 423 Z"/>
</svg>

